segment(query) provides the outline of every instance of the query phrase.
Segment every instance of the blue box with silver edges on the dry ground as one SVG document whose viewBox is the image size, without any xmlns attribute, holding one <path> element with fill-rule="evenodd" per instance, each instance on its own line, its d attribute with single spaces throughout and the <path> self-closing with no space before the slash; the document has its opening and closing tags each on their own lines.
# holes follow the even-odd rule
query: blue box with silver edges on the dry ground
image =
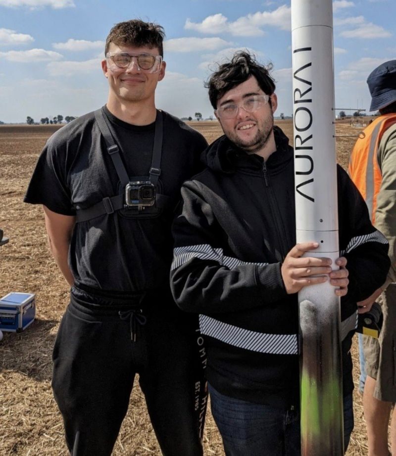
<svg viewBox="0 0 396 456">
<path fill-rule="evenodd" d="M 8 293 L 0 299 L 1 331 L 20 332 L 33 323 L 36 316 L 33 293 Z"/>
</svg>

